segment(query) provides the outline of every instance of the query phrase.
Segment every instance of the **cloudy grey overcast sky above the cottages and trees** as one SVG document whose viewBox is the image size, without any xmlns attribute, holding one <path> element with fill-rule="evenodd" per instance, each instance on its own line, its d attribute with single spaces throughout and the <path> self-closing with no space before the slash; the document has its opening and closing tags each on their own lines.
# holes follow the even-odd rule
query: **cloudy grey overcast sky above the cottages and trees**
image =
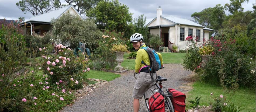
<svg viewBox="0 0 256 112">
<path fill-rule="evenodd" d="M 30 12 L 24 14 L 16 3 L 20 0 L 0 0 L 0 19 L 17 20 L 18 17 L 29 19 L 33 15 Z M 194 12 L 200 12 L 205 8 L 214 7 L 216 4 L 224 6 L 229 0 L 119 0 L 129 7 L 133 17 L 144 14 L 148 19 L 156 17 L 156 9 L 161 6 L 162 15 L 173 15 L 176 17 L 191 19 Z M 255 0 L 244 2 L 244 11 L 253 10 L 252 3 Z M 229 14 L 226 11 L 226 14 Z"/>
</svg>

